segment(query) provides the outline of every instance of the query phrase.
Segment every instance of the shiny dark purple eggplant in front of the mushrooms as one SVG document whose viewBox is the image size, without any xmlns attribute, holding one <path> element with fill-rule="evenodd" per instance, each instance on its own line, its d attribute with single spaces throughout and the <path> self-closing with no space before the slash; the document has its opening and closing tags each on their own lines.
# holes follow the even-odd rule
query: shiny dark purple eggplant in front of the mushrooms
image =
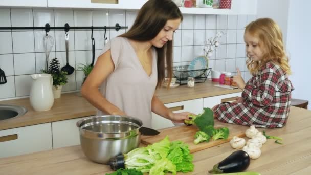
<svg viewBox="0 0 311 175">
<path fill-rule="evenodd" d="M 212 174 L 242 172 L 250 165 L 250 156 L 246 151 L 237 150 L 232 152 L 226 159 L 215 164 L 213 169 L 208 171 Z"/>
</svg>

